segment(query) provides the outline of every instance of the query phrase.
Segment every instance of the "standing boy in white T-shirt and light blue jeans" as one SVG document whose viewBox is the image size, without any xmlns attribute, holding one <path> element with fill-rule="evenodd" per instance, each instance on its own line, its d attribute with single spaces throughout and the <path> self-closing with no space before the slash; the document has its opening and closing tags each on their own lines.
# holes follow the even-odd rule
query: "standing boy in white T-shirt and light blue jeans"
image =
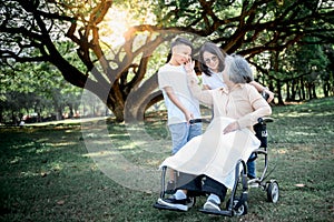
<svg viewBox="0 0 334 222">
<path fill-rule="evenodd" d="M 187 39 L 177 38 L 171 42 L 170 51 L 170 60 L 158 71 L 158 82 L 168 112 L 171 154 L 175 154 L 190 139 L 202 134 L 202 123 L 189 124 L 190 120 L 200 119 L 199 102 L 188 88 L 184 67 L 191 59 L 193 44 Z"/>
</svg>

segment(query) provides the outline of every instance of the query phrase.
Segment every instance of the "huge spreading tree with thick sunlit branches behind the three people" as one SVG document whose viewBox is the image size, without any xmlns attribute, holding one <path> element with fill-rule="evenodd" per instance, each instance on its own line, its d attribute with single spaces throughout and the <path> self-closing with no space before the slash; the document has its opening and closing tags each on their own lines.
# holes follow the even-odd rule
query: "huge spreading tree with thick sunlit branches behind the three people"
<svg viewBox="0 0 334 222">
<path fill-rule="evenodd" d="M 161 99 L 156 71 L 177 34 L 188 34 L 198 46 L 212 41 L 227 53 L 243 54 L 279 101 L 288 79 L 281 62 L 288 49 L 312 44 L 330 46 L 326 49 L 333 51 L 334 2 L 330 0 L 0 2 L 1 65 L 14 72 L 18 62 L 51 63 L 66 81 L 99 97 L 118 121 L 143 118 Z M 119 19 L 122 13 L 128 17 Z M 122 24 L 122 41 L 108 41 L 108 36 L 118 34 L 117 23 Z M 67 57 L 73 52 L 75 61 Z M 310 69 L 322 68 L 313 62 Z M 330 72 L 330 78 L 323 78 L 326 84 L 333 84 Z"/>
</svg>

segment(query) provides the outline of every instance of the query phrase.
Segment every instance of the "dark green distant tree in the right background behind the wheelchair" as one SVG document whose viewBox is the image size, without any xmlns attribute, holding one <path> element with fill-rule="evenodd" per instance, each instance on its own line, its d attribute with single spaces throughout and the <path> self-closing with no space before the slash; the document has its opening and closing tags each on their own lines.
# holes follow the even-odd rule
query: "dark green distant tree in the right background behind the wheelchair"
<svg viewBox="0 0 334 222">
<path fill-rule="evenodd" d="M 308 41 L 311 42 L 310 39 Z M 326 69 L 328 59 L 318 44 L 295 44 L 281 53 L 277 52 L 276 60 L 276 69 L 265 77 L 275 81 L 276 89 L 285 85 L 285 101 L 317 98 L 316 89 L 330 83 L 330 79 L 324 78 L 331 73 Z M 281 91 L 283 92 L 277 91 L 277 99 L 279 104 L 284 104 Z"/>
</svg>

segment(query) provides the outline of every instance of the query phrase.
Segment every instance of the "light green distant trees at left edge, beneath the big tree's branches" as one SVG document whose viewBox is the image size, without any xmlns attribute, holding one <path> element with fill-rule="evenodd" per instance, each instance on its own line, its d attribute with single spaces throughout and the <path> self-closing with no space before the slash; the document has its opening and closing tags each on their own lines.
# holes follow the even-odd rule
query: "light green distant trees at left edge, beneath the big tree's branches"
<svg viewBox="0 0 334 222">
<path fill-rule="evenodd" d="M 37 113 L 33 121 L 55 115 L 62 119 L 63 109 L 78 110 L 81 90 L 66 82 L 58 69 L 48 63 L 13 63 L 1 67 L 1 122 L 11 115 L 17 123 L 23 114 Z M 7 118 L 7 122 L 8 122 Z"/>
</svg>

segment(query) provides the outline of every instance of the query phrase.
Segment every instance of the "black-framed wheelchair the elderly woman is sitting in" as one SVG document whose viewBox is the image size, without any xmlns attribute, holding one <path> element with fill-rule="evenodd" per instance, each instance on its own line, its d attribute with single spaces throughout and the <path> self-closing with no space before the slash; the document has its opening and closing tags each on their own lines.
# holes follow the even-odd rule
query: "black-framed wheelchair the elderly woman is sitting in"
<svg viewBox="0 0 334 222">
<path fill-rule="evenodd" d="M 273 170 L 268 173 L 268 152 L 267 152 L 267 130 L 266 124 L 268 122 L 273 122 L 273 119 L 271 118 L 259 118 L 258 123 L 254 125 L 255 135 L 261 141 L 261 145 L 258 149 L 253 151 L 250 157 L 254 157 L 249 159 L 248 161 L 255 161 L 259 155 L 264 155 L 263 161 L 263 172 L 259 178 L 255 178 L 249 180 L 247 178 L 247 163 L 239 159 L 235 165 L 235 182 L 233 185 L 233 189 L 230 190 L 229 194 L 226 194 L 226 198 L 228 198 L 226 202 L 226 208 L 220 211 L 214 211 L 214 210 L 205 210 L 199 209 L 203 213 L 208 214 L 215 214 L 215 215 L 225 215 L 225 216 L 234 216 L 234 215 L 245 215 L 248 211 L 248 186 L 252 188 L 261 188 L 263 191 L 267 194 L 268 202 L 276 203 L 279 199 L 279 186 L 278 182 L 275 179 L 272 179 L 269 181 L 265 181 L 266 178 L 273 172 Z M 247 162 L 248 162 L 247 161 Z M 160 199 L 165 199 L 166 195 L 173 194 L 176 192 L 177 188 L 175 184 L 168 183 L 168 180 L 166 180 L 168 169 L 167 167 L 163 167 L 161 170 L 161 191 L 160 191 Z M 170 176 L 170 175 L 169 175 Z M 177 180 L 177 172 L 174 172 L 174 181 Z M 188 198 L 191 200 L 191 202 L 188 204 L 188 206 L 194 206 L 196 203 L 196 196 L 205 195 L 205 193 L 195 192 L 189 193 Z M 158 210 L 171 210 L 177 211 L 177 209 L 169 208 L 166 205 L 161 205 L 158 202 L 154 204 L 154 208 Z"/>
</svg>

